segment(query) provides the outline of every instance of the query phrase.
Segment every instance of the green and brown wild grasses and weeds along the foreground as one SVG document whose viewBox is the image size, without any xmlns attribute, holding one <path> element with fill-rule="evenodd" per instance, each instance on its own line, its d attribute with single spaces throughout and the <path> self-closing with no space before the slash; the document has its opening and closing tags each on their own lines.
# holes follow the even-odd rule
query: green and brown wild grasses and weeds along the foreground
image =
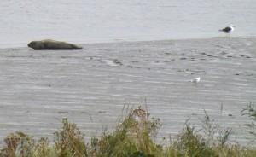
<svg viewBox="0 0 256 157">
<path fill-rule="evenodd" d="M 248 132 L 256 137 L 256 110 L 250 103 L 241 111 L 252 119 L 245 124 Z M 23 133 L 10 133 L 4 139 L 1 157 L 255 157 L 256 148 L 242 148 L 239 144 L 227 145 L 232 131 L 219 131 L 213 119 L 205 112 L 201 131 L 187 121 L 175 139 L 156 142 L 160 119 L 149 119 L 143 108 L 131 109 L 112 133 L 91 137 L 84 142 L 84 134 L 77 125 L 62 119 L 62 127 L 54 133 L 54 143 L 41 137 L 35 140 Z M 199 133 L 201 132 L 201 133 Z"/>
</svg>

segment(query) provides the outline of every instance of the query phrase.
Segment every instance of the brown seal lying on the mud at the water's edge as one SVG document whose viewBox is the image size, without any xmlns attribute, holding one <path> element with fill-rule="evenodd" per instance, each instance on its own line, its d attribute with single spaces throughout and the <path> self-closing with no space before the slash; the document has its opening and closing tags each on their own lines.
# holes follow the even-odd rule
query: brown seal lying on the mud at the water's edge
<svg viewBox="0 0 256 157">
<path fill-rule="evenodd" d="M 83 49 L 82 47 L 75 45 L 75 44 L 69 44 L 66 42 L 61 41 L 55 41 L 51 39 L 41 40 L 41 41 L 32 41 L 29 44 L 27 44 L 28 47 L 32 49 Z"/>
</svg>

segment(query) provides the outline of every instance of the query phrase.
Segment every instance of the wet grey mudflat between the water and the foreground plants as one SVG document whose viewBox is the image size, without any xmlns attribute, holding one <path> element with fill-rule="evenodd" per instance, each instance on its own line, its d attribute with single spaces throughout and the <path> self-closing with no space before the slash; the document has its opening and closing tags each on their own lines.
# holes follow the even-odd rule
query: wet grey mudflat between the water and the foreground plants
<svg viewBox="0 0 256 157">
<path fill-rule="evenodd" d="M 63 117 L 90 139 L 133 105 L 161 120 L 159 137 L 173 137 L 189 118 L 200 128 L 205 110 L 220 129 L 233 128 L 231 142 L 247 142 L 241 109 L 256 102 L 256 38 L 82 46 L 0 49 L 1 142 L 13 131 L 52 140 Z"/>
</svg>

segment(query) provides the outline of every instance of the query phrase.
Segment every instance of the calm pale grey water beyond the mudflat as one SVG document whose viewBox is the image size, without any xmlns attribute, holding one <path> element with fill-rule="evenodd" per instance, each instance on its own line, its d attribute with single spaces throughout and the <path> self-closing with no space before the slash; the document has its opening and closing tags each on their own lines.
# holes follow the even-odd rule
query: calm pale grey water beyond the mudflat
<svg viewBox="0 0 256 157">
<path fill-rule="evenodd" d="M 1 0 L 0 48 L 52 38 L 76 44 L 254 37 L 255 0 Z"/>
</svg>

